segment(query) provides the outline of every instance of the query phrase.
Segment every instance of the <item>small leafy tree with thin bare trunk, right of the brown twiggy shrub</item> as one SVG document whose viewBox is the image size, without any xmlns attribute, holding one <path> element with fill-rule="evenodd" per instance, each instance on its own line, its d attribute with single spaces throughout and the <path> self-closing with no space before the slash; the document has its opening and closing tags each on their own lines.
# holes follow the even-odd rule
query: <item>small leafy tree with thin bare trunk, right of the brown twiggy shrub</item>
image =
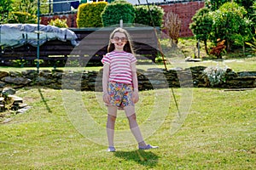
<svg viewBox="0 0 256 170">
<path fill-rule="evenodd" d="M 209 8 L 201 8 L 192 18 L 192 23 L 189 28 L 192 30 L 197 40 L 203 41 L 205 44 L 206 53 L 208 53 L 207 40 L 212 31 L 212 16 Z"/>
</svg>

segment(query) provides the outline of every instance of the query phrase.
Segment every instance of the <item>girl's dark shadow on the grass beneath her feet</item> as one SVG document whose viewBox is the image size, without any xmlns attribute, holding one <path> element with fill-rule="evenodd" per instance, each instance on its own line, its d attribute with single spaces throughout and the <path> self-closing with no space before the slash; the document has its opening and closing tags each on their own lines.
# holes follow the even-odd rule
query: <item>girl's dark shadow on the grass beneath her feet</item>
<svg viewBox="0 0 256 170">
<path fill-rule="evenodd" d="M 134 150 L 134 151 L 116 151 L 114 156 L 123 158 L 127 161 L 136 161 L 146 167 L 154 167 L 158 163 L 159 156 L 151 151 Z"/>
</svg>

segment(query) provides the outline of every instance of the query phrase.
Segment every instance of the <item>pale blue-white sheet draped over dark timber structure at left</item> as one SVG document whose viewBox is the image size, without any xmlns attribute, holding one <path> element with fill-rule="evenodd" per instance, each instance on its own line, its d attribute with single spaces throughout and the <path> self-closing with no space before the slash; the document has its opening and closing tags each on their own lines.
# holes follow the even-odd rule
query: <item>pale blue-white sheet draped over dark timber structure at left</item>
<svg viewBox="0 0 256 170">
<path fill-rule="evenodd" d="M 39 25 L 39 45 L 50 40 L 60 40 L 62 42 L 71 41 L 73 46 L 78 45 L 77 36 L 67 28 L 56 26 Z M 25 44 L 38 45 L 38 25 L 37 24 L 5 24 L 0 25 L 0 46 L 20 47 Z"/>
</svg>

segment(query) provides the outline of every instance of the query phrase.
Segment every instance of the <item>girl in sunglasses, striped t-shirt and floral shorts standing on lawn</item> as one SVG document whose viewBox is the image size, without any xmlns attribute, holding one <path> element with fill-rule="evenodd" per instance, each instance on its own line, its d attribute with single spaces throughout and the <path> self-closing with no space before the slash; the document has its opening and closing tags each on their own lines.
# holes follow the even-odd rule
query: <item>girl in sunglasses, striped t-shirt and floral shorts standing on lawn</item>
<svg viewBox="0 0 256 170">
<path fill-rule="evenodd" d="M 131 47 L 131 37 L 122 28 L 115 29 L 109 38 L 108 54 L 103 59 L 103 101 L 108 106 L 108 151 L 115 151 L 113 144 L 114 123 L 117 109 L 125 110 L 131 133 L 137 139 L 140 150 L 157 148 L 146 144 L 137 125 L 135 107 L 138 96 L 137 59 Z"/>
</svg>

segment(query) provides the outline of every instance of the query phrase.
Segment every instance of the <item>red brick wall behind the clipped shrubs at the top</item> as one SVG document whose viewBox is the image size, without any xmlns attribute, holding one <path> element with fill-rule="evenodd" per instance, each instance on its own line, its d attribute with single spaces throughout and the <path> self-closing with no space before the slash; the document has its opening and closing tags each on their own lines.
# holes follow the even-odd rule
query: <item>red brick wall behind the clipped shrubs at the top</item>
<svg viewBox="0 0 256 170">
<path fill-rule="evenodd" d="M 172 13 L 178 14 L 179 18 L 182 20 L 180 37 L 191 37 L 193 36 L 192 31 L 189 29 L 191 19 L 194 16 L 195 12 L 198 9 L 203 8 L 204 5 L 205 3 L 203 1 L 195 1 L 188 3 L 160 4 L 160 7 L 162 7 L 165 12 L 172 11 Z M 55 20 L 56 18 L 67 19 L 68 27 L 77 27 L 76 13 L 44 15 L 41 17 L 41 24 L 47 25 L 50 20 Z"/>
</svg>

